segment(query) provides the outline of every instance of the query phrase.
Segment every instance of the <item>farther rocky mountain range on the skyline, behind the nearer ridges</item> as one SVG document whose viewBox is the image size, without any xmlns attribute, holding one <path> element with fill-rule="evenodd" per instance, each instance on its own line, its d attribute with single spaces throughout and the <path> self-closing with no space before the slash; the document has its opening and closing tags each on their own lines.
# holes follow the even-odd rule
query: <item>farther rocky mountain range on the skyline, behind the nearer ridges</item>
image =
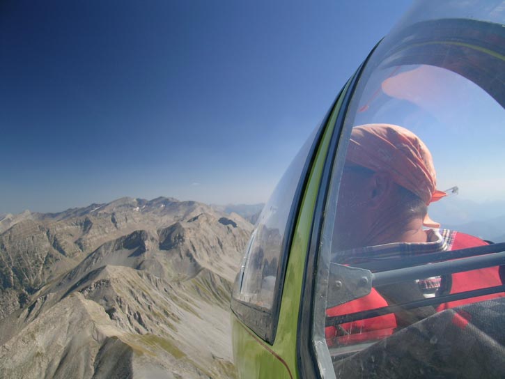
<svg viewBox="0 0 505 379">
<path fill-rule="evenodd" d="M 101 245 L 134 231 L 157 235 L 159 229 L 201 214 L 235 219 L 196 201 L 123 198 L 59 213 L 29 213 L 0 233 L 0 318 L 24 307 L 43 284 L 75 267 Z"/>
</svg>

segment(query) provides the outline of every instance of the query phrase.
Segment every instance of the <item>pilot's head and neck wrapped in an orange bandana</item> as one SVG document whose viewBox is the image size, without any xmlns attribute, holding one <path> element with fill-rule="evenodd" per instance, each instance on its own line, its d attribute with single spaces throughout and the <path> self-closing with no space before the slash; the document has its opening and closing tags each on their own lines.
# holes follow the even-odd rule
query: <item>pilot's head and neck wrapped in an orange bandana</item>
<svg viewBox="0 0 505 379">
<path fill-rule="evenodd" d="M 436 182 L 431 153 L 416 134 L 389 124 L 354 127 L 339 189 L 336 247 L 422 242 L 422 227 L 437 226 L 427 206 L 445 195 Z"/>
</svg>

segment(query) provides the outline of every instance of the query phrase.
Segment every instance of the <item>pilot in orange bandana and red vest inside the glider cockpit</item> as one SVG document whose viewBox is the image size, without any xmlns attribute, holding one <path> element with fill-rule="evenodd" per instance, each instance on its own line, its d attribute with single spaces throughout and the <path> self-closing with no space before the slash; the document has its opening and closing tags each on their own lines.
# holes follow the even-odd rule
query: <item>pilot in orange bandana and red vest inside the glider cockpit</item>
<svg viewBox="0 0 505 379">
<path fill-rule="evenodd" d="M 432 155 L 416 134 L 398 125 L 354 127 L 339 188 L 332 242 L 334 258 L 340 257 L 345 263 L 342 257 L 357 253 L 407 256 L 486 245 L 472 235 L 440 229 L 440 224 L 428 217 L 428 205 L 446 196 L 436 185 Z M 442 280 L 439 293 L 502 284 L 497 267 L 456 273 L 450 279 Z M 401 291 L 398 286 L 372 288 L 365 297 L 327 309 L 327 316 L 416 300 L 433 287 L 433 281 L 440 281 L 440 277 L 404 283 Z M 496 296 L 473 297 L 440 304 L 436 309 L 422 307 L 327 327 L 327 342 L 331 346 L 337 339 L 339 343 L 351 343 L 387 337 L 397 327 L 410 325 L 435 311 Z"/>
</svg>

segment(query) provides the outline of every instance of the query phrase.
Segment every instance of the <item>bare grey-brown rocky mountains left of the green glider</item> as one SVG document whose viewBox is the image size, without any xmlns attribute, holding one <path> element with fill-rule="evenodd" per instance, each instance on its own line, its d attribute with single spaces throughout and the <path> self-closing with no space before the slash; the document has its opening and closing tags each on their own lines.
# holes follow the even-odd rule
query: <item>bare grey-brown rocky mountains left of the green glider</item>
<svg viewBox="0 0 505 379">
<path fill-rule="evenodd" d="M 229 298 L 252 225 L 123 198 L 0 221 L 0 378 L 234 378 Z"/>
</svg>

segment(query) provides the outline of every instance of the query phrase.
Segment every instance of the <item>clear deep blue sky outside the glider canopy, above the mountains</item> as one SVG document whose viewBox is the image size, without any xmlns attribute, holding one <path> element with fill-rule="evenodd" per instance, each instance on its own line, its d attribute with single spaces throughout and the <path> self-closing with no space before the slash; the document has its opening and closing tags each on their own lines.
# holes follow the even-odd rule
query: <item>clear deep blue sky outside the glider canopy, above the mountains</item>
<svg viewBox="0 0 505 379">
<path fill-rule="evenodd" d="M 267 201 L 390 1 L 1 1 L 0 213 Z"/>
</svg>

